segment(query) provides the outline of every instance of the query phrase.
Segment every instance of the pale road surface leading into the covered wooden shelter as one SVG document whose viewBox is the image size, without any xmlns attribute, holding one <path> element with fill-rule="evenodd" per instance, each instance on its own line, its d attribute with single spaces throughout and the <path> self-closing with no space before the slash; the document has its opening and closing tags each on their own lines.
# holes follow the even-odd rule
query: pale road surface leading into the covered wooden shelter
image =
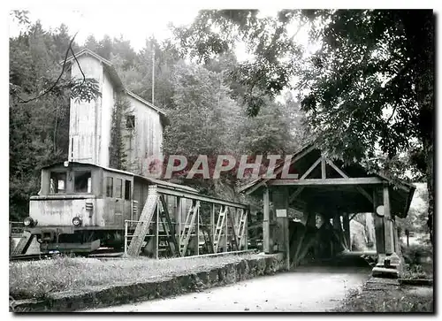
<svg viewBox="0 0 442 321">
<path fill-rule="evenodd" d="M 293 311 L 335 308 L 352 288 L 362 287 L 370 268 L 300 267 L 227 287 L 88 312 Z"/>
</svg>

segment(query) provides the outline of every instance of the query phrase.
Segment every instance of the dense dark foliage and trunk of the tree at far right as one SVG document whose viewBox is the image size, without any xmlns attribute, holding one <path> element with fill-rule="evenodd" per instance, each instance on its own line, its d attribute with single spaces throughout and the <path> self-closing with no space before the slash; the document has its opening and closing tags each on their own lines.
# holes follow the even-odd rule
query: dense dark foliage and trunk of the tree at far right
<svg viewBox="0 0 442 321">
<path fill-rule="evenodd" d="M 302 107 L 344 160 L 423 153 L 432 240 L 434 16 L 419 11 L 319 11 L 323 46 L 302 81 Z M 412 159 L 415 159 L 412 157 Z M 404 168 L 402 168 L 404 170 Z"/>
</svg>

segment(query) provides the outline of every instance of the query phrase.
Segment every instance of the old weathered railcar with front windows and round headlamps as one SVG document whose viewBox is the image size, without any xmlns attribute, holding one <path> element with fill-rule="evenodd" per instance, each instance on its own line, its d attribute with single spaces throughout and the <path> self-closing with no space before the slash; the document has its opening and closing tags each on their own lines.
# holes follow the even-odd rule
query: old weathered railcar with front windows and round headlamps
<svg viewBox="0 0 442 321">
<path fill-rule="evenodd" d="M 46 166 L 42 168 L 40 192 L 30 198 L 25 229 L 40 243 L 42 253 L 120 249 L 125 220 L 140 218 L 150 185 L 196 192 L 191 187 L 95 164 Z"/>
</svg>

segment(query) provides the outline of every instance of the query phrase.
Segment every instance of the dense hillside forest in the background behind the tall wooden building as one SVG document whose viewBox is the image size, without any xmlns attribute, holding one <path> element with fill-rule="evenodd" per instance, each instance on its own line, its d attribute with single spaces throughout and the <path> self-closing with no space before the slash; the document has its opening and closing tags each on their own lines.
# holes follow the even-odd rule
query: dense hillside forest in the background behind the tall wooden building
<svg viewBox="0 0 442 321">
<path fill-rule="evenodd" d="M 155 68 L 154 103 L 167 112 L 171 123 L 164 132 L 165 154 L 240 156 L 289 153 L 296 148 L 304 127 L 300 105 L 293 96 L 276 103 L 266 90 L 255 88 L 252 96 L 262 104 L 263 113 L 248 118 L 245 106 L 250 91 L 237 73 L 240 63 L 232 50 L 196 65 L 180 57 L 176 41 L 177 38 L 164 42 L 150 38 L 142 50 L 135 52 L 123 38 L 105 36 L 96 40 L 91 35 L 83 48 L 109 59 L 125 88 L 147 101 L 152 98 Z M 45 31 L 37 22 L 26 33 L 10 39 L 10 43 L 10 212 L 11 216 L 23 218 L 27 216 L 29 195 L 38 192 L 40 168 L 67 157 L 69 98 L 90 101 L 100 94 L 96 80 L 72 80 L 62 73 L 59 62 L 65 59 L 70 43 L 74 52 L 81 49 L 65 26 Z M 63 76 L 56 81 L 60 75 Z M 120 145 L 126 134 L 121 130 L 125 105 L 118 99 L 112 118 L 110 163 L 116 168 L 127 165 Z M 232 192 L 236 181 L 232 179 L 225 177 L 223 182 L 210 184 L 194 180 L 194 184 L 210 195 L 236 197 Z"/>
</svg>

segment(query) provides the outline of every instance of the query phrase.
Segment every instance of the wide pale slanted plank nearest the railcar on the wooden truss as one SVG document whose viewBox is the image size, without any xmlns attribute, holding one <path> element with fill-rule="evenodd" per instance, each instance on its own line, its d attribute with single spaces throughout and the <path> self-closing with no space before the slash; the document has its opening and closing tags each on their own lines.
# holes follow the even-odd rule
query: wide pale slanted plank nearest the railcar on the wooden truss
<svg viewBox="0 0 442 321">
<path fill-rule="evenodd" d="M 159 195 L 156 193 L 156 186 L 150 186 L 148 197 L 146 198 L 146 203 L 142 209 L 139 222 L 135 228 L 135 232 L 133 233 L 129 248 L 127 248 L 127 254 L 129 256 L 138 256 L 140 254 L 146 234 L 149 232 L 149 225 L 152 221 L 152 217 L 154 216 L 158 198 Z"/>
</svg>

